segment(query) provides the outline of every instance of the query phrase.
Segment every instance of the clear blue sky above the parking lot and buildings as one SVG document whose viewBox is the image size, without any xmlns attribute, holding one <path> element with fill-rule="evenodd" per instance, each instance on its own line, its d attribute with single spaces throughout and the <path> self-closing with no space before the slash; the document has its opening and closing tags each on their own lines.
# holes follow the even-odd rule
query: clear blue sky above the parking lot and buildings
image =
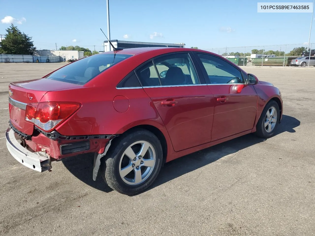
<svg viewBox="0 0 315 236">
<path fill-rule="evenodd" d="M 304 43 L 312 13 L 257 13 L 253 0 L 109 0 L 111 39 L 223 48 Z M 9 17 L 8 17 L 9 16 Z M 5 18 L 6 17 L 6 18 Z M 106 0 L 0 0 L 0 34 L 13 22 L 38 49 L 79 45 L 101 50 Z M 313 16 L 315 18 L 315 14 Z M 311 42 L 315 42 L 313 20 Z M 73 42 L 75 41 L 75 42 Z"/>
</svg>

